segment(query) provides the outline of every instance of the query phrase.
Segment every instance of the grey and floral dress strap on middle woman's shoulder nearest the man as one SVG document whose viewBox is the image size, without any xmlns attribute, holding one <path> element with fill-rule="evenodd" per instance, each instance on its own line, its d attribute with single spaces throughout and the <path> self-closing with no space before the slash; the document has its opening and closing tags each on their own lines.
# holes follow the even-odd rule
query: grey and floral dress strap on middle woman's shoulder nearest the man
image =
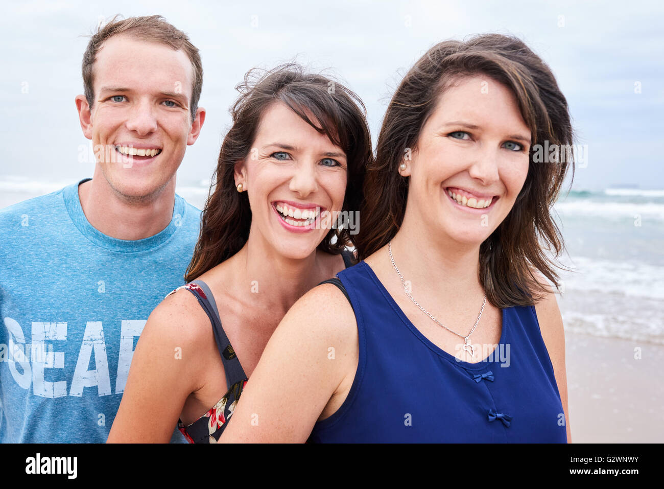
<svg viewBox="0 0 664 489">
<path fill-rule="evenodd" d="M 201 308 L 203 308 L 205 314 L 210 318 L 212 332 L 214 332 L 214 340 L 216 341 L 216 346 L 224 365 L 224 372 L 226 373 L 226 387 L 230 389 L 232 385 L 244 381 L 247 377 L 242 365 L 240 365 L 238 356 L 235 354 L 230 341 L 228 341 L 228 336 L 226 336 L 224 328 L 221 326 L 221 320 L 219 318 L 218 309 L 216 308 L 216 303 L 214 302 L 214 296 L 212 296 L 212 291 L 208 285 L 203 282 L 203 280 L 193 280 L 192 282 L 189 282 L 189 284 L 178 287 L 173 290 L 173 292 L 180 290 L 181 288 L 189 290 L 189 292 L 194 294 L 194 297 L 199 301 L 199 304 L 201 304 Z M 173 292 L 171 292 L 171 294 L 173 294 Z"/>
</svg>

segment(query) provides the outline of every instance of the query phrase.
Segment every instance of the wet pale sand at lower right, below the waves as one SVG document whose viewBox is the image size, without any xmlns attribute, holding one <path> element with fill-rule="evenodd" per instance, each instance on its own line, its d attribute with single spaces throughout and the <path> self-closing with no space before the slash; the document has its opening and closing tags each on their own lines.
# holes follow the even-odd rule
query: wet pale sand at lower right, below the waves
<svg viewBox="0 0 664 489">
<path fill-rule="evenodd" d="M 664 442 L 664 346 L 571 332 L 565 345 L 572 442 Z"/>
</svg>

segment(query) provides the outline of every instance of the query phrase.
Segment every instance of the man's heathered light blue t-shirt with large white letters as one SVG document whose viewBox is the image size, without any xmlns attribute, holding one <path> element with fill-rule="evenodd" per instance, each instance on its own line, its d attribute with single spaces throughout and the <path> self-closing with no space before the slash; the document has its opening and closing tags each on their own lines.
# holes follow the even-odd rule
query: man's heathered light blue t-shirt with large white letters
<svg viewBox="0 0 664 489">
<path fill-rule="evenodd" d="M 106 442 L 147 317 L 184 284 L 201 211 L 175 195 L 166 229 L 114 239 L 86 180 L 0 210 L 0 442 Z"/>
</svg>

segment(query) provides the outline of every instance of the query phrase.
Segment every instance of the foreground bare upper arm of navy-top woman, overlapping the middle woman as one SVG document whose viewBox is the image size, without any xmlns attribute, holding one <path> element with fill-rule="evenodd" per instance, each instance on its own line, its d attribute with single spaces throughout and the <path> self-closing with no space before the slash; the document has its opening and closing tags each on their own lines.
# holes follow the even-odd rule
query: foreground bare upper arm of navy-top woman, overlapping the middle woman
<svg viewBox="0 0 664 489">
<path fill-rule="evenodd" d="M 306 441 L 325 408 L 343 402 L 331 399 L 355 376 L 357 342 L 355 314 L 341 291 L 325 284 L 307 292 L 270 338 L 220 441 Z"/>
</svg>

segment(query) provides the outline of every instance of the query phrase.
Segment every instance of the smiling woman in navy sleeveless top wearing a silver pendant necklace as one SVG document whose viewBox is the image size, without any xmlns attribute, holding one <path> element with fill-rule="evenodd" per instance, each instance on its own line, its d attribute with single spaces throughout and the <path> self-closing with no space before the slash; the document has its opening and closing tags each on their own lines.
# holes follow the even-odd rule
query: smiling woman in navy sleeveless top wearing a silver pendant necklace
<svg viewBox="0 0 664 489">
<path fill-rule="evenodd" d="M 361 262 L 286 314 L 221 440 L 571 442 L 548 282 L 572 140 L 552 72 L 519 39 L 428 50 L 367 170 Z"/>
</svg>

